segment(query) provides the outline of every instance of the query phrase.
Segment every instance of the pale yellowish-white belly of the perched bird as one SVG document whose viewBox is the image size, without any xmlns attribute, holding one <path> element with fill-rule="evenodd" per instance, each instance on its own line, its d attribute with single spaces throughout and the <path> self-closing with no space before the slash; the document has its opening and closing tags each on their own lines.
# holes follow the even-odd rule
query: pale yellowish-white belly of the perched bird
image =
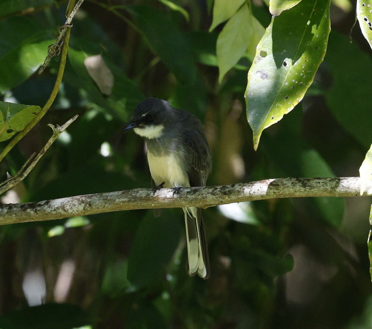
<svg viewBox="0 0 372 329">
<path fill-rule="evenodd" d="M 147 150 L 148 166 L 156 185 L 165 183 L 164 187 L 189 187 L 189 177 L 182 165 L 183 157 L 179 152 L 155 155 Z"/>
</svg>

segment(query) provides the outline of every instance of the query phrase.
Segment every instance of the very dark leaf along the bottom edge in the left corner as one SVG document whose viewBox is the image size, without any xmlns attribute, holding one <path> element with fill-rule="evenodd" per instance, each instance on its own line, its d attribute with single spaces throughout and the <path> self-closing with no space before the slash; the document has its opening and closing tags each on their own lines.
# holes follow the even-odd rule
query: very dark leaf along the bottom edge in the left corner
<svg viewBox="0 0 372 329">
<path fill-rule="evenodd" d="M 55 303 L 26 307 L 0 316 L 2 329 L 71 329 L 91 322 L 90 316 L 80 307 Z"/>
</svg>

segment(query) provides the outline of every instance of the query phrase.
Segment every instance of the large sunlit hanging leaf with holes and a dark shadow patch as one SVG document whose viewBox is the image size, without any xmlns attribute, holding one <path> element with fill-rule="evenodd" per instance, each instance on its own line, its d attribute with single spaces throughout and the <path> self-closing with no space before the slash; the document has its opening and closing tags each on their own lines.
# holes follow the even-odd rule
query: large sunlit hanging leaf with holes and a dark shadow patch
<svg viewBox="0 0 372 329">
<path fill-rule="evenodd" d="M 327 49 L 329 5 L 302 0 L 273 17 L 259 42 L 244 95 L 254 149 L 263 130 L 290 112 L 314 80 Z"/>
</svg>

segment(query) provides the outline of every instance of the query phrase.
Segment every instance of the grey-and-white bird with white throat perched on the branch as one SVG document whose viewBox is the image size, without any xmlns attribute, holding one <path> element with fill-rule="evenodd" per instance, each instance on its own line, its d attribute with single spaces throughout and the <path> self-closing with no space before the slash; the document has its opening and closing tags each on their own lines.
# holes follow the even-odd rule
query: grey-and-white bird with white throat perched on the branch
<svg viewBox="0 0 372 329">
<path fill-rule="evenodd" d="M 147 143 L 154 194 L 163 187 L 172 188 L 174 196 L 182 187 L 205 186 L 212 170 L 212 159 L 204 126 L 198 117 L 151 97 L 138 104 L 124 132 L 131 129 Z M 187 274 L 207 279 L 209 255 L 201 209 L 182 209 L 186 225 Z"/>
</svg>

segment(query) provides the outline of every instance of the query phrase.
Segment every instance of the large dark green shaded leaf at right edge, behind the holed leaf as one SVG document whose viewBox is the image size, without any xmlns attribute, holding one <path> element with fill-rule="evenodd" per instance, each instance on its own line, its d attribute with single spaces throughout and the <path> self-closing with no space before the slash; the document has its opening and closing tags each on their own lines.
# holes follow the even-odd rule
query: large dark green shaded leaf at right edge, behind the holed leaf
<svg viewBox="0 0 372 329">
<path fill-rule="evenodd" d="M 372 104 L 371 56 L 346 36 L 332 32 L 325 62 L 332 73 L 332 85 L 325 92 L 327 105 L 343 128 L 368 149 L 372 141 L 366 117 Z"/>
</svg>

